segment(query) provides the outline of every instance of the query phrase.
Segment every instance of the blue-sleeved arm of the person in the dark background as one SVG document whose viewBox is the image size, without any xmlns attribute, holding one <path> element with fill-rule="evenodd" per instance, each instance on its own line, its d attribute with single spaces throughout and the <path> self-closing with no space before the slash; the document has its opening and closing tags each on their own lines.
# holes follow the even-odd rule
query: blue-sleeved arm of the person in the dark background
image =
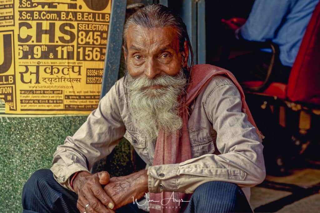
<svg viewBox="0 0 320 213">
<path fill-rule="evenodd" d="M 273 39 L 294 2 L 296 0 L 255 0 L 247 21 L 238 33 L 248 41 Z"/>
</svg>

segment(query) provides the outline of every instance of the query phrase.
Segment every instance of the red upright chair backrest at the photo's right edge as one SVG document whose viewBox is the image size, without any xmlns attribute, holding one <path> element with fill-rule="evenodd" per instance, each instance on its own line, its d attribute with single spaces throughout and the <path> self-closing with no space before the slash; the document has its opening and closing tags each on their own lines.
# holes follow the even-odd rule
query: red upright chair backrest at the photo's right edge
<svg viewBox="0 0 320 213">
<path fill-rule="evenodd" d="M 289 100 L 320 104 L 320 2 L 316 5 L 290 73 Z"/>
</svg>

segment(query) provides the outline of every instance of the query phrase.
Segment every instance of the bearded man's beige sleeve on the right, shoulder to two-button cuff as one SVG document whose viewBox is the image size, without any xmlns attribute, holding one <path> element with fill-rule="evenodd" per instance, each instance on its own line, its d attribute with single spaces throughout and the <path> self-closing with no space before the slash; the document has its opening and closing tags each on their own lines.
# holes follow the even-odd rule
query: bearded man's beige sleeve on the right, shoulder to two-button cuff
<svg viewBox="0 0 320 213">
<path fill-rule="evenodd" d="M 150 192 L 189 194 L 208 181 L 226 181 L 246 187 L 259 184 L 265 178 L 263 146 L 247 115 L 241 112 L 239 91 L 231 80 L 218 78 L 222 83 L 212 80 L 208 85 L 211 88 L 206 92 L 209 95 L 202 102 L 207 118 L 217 131 L 216 144 L 221 154 L 207 154 L 180 164 L 150 166 Z M 161 177 L 160 173 L 163 173 Z M 160 184 L 163 189 L 160 189 Z"/>
</svg>

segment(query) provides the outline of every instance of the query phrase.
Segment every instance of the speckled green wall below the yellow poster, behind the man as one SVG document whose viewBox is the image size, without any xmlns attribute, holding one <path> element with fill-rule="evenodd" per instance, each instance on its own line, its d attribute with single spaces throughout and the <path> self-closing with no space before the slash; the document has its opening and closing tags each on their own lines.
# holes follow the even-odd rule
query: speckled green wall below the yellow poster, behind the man
<svg viewBox="0 0 320 213">
<path fill-rule="evenodd" d="M 21 192 L 30 175 L 50 168 L 56 147 L 73 135 L 87 116 L 65 117 L 1 117 L 0 115 L 0 212 L 22 212 Z M 108 159 L 96 164 L 97 170 L 112 175 L 132 171 L 131 147 L 121 141 Z"/>
</svg>

